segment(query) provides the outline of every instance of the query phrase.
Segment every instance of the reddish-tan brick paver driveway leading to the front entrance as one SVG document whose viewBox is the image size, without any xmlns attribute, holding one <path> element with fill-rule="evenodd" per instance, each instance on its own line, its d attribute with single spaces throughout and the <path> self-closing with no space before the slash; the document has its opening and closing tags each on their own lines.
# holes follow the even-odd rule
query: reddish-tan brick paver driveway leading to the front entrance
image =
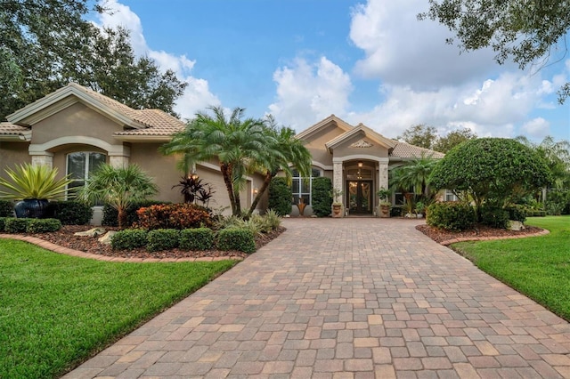
<svg viewBox="0 0 570 379">
<path fill-rule="evenodd" d="M 280 238 L 65 378 L 570 377 L 570 325 L 395 219 Z"/>
</svg>

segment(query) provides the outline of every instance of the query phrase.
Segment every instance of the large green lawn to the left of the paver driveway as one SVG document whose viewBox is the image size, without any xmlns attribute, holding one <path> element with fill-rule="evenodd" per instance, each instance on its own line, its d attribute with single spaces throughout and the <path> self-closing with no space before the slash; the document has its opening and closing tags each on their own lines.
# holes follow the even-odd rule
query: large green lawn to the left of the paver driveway
<svg viewBox="0 0 570 379">
<path fill-rule="evenodd" d="M 118 263 L 0 239 L 0 378 L 50 378 L 235 262 Z"/>
</svg>

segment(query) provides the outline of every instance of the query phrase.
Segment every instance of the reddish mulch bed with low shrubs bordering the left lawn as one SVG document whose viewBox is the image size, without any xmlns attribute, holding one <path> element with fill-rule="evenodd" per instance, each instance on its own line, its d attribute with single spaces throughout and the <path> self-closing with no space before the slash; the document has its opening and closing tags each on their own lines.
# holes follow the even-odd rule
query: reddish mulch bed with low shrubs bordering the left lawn
<svg viewBox="0 0 570 379">
<path fill-rule="evenodd" d="M 98 238 L 75 236 L 77 231 L 85 231 L 94 228 L 88 225 L 66 225 L 61 230 L 53 233 L 38 233 L 33 236 L 42 238 L 52 242 L 55 245 L 68 247 L 70 249 L 79 250 L 85 253 L 100 254 L 122 258 L 202 258 L 202 257 L 227 257 L 227 258 L 245 258 L 248 254 L 239 251 L 186 251 L 180 249 L 164 250 L 159 252 L 149 252 L 145 248 L 134 250 L 113 250 L 109 245 L 103 245 Z M 118 228 L 103 227 L 105 230 L 118 230 Z M 285 228 L 280 227 L 272 233 L 268 233 L 261 237 L 256 237 L 256 248 L 264 246 L 273 238 L 279 236 Z"/>
</svg>

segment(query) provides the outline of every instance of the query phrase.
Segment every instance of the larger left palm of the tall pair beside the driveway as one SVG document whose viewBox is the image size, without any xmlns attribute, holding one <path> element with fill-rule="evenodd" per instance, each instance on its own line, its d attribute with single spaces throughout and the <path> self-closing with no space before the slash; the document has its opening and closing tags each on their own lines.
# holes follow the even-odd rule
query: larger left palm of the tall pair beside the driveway
<svg viewBox="0 0 570 379">
<path fill-rule="evenodd" d="M 274 138 L 267 133 L 265 121 L 247 118 L 245 109 L 235 108 L 229 118 L 222 107 L 208 108 L 213 116 L 199 112 L 186 128 L 173 136 L 160 150 L 167 155 L 183 154 L 181 168 L 217 158 L 232 214 L 241 215 L 240 190 L 246 183 L 249 165 L 269 165 L 267 150 Z"/>
</svg>

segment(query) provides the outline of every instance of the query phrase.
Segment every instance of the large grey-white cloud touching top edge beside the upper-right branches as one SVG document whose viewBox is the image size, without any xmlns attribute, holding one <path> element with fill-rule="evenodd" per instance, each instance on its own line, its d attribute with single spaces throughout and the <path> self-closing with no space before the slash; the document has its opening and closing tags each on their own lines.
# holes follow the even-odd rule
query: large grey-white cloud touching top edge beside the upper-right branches
<svg viewBox="0 0 570 379">
<path fill-rule="evenodd" d="M 391 85 L 433 89 L 483 77 L 495 66 L 493 52 L 460 54 L 457 46 L 445 44 L 451 36 L 446 28 L 417 19 L 427 7 L 425 0 L 369 0 L 355 7 L 350 38 L 365 54 L 355 73 Z"/>
</svg>

